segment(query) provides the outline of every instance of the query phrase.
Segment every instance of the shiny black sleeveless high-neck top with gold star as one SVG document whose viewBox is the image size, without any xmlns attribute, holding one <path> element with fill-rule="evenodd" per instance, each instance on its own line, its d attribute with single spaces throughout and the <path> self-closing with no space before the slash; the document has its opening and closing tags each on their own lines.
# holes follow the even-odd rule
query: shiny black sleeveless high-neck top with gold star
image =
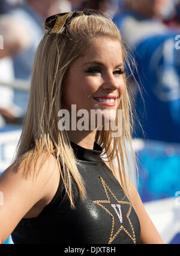
<svg viewBox="0 0 180 256">
<path fill-rule="evenodd" d="M 86 200 L 80 199 L 71 177 L 76 206 L 76 209 L 71 209 L 60 179 L 55 196 L 40 215 L 19 222 L 11 234 L 13 242 L 68 245 L 139 243 L 139 219 L 112 171 L 101 159 L 102 148 L 94 143 L 93 150 L 89 150 L 73 142 L 71 147 L 85 181 Z"/>
</svg>

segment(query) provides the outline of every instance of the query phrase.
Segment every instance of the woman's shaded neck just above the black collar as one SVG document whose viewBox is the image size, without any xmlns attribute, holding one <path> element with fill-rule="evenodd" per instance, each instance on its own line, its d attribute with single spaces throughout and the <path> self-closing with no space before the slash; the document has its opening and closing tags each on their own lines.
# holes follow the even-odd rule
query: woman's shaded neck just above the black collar
<svg viewBox="0 0 180 256">
<path fill-rule="evenodd" d="M 70 141 L 76 143 L 80 147 L 93 149 L 96 130 L 68 130 Z"/>
</svg>

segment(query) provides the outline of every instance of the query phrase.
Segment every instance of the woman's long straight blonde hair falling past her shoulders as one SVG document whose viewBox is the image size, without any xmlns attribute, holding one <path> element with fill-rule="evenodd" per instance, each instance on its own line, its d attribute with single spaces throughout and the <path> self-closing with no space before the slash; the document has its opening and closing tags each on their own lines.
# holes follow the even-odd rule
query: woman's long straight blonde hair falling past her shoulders
<svg viewBox="0 0 180 256">
<path fill-rule="evenodd" d="M 32 162 L 37 162 L 41 153 L 45 153 L 47 157 L 53 154 L 73 208 L 75 206 L 71 175 L 76 181 L 82 200 L 86 198 L 86 190 L 76 166 L 76 156 L 70 146 L 67 132 L 58 130 L 58 111 L 62 109 L 62 81 L 71 62 L 83 55 L 94 38 L 101 36 L 119 40 L 124 59 L 127 58 L 119 30 L 107 15 L 106 17 L 101 14 L 74 17 L 67 27 L 67 33 L 48 34 L 47 31 L 44 34 L 35 54 L 29 104 L 16 151 L 16 159 L 20 159 L 20 166 L 26 163 L 24 168 L 26 175 L 31 175 L 28 171 L 29 166 Z M 125 75 L 124 80 L 126 80 Z M 104 149 L 115 177 L 114 161 L 116 159 L 121 186 L 125 195 L 128 196 L 125 168 L 127 168 L 126 162 L 128 163 L 127 140 L 131 145 L 133 118 L 127 88 L 118 109 L 122 109 L 122 136 L 113 137 L 111 130 L 98 130 L 95 142 Z M 132 146 L 131 150 L 133 153 Z"/>
</svg>

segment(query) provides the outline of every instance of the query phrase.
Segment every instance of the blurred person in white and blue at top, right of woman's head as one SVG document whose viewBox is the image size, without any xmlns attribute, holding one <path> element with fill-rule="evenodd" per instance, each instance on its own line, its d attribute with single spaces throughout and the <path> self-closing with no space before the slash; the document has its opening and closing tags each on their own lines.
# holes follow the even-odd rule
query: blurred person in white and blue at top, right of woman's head
<svg viewBox="0 0 180 256">
<path fill-rule="evenodd" d="M 122 12 L 116 14 L 115 22 L 123 34 L 123 39 L 131 47 L 149 35 L 166 31 L 161 21 L 163 5 L 169 0 L 122 0 Z"/>
</svg>

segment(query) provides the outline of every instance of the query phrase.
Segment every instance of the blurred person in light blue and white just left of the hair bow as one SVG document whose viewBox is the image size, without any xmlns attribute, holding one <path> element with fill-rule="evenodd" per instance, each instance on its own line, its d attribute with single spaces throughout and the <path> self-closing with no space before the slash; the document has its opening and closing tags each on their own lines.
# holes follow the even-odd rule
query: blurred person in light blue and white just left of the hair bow
<svg viewBox="0 0 180 256">
<path fill-rule="evenodd" d="M 13 57 L 15 79 L 29 81 L 31 79 L 32 64 L 35 51 L 44 34 L 44 19 L 51 14 L 61 12 L 59 0 L 26 0 L 24 4 L 10 11 L 11 17 L 26 26 L 31 37 L 31 44 L 25 50 Z M 23 109 L 28 105 L 29 93 L 27 91 L 14 91 L 14 103 Z"/>
</svg>

